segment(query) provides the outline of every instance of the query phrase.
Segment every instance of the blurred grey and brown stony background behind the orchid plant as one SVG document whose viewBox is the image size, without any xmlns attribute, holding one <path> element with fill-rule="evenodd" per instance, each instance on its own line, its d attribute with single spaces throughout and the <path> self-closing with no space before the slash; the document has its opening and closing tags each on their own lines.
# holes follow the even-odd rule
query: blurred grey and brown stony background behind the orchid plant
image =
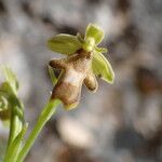
<svg viewBox="0 0 162 162">
<path fill-rule="evenodd" d="M 60 106 L 25 161 L 161 162 L 162 0 L 0 0 L 0 64 L 17 75 L 29 131 L 52 90 L 48 62 L 62 56 L 46 40 L 89 23 L 105 30 L 114 84 L 83 86 L 79 107 Z M 6 136 L 0 123 L 1 149 Z"/>
</svg>

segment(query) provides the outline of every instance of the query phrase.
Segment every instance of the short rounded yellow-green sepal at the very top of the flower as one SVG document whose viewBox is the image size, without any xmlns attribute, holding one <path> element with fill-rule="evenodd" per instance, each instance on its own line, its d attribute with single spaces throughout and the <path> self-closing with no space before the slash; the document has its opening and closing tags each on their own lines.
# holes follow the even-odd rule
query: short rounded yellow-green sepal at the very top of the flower
<svg viewBox="0 0 162 162">
<path fill-rule="evenodd" d="M 85 41 L 89 38 L 94 38 L 95 44 L 97 45 L 104 39 L 104 30 L 95 24 L 89 24 L 85 31 Z"/>
</svg>

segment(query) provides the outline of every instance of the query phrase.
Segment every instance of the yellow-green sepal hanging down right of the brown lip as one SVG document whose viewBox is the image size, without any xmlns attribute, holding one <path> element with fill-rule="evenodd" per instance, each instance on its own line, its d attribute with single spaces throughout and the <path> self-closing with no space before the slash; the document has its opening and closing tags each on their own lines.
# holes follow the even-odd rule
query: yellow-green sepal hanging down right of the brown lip
<svg viewBox="0 0 162 162">
<path fill-rule="evenodd" d="M 106 82 L 113 83 L 113 70 L 109 62 L 102 53 L 94 51 L 92 59 L 92 69 L 96 76 L 100 77 Z"/>
</svg>

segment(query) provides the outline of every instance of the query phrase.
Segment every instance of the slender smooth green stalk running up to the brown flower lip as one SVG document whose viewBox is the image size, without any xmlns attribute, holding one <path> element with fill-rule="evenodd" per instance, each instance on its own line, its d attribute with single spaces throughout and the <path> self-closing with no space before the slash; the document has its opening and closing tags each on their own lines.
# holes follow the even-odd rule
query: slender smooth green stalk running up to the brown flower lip
<svg viewBox="0 0 162 162">
<path fill-rule="evenodd" d="M 43 108 L 33 130 L 31 131 L 29 137 L 27 138 L 22 151 L 18 154 L 16 162 L 23 162 L 31 146 L 33 145 L 36 138 L 41 132 L 44 124 L 50 120 L 56 110 L 56 106 L 60 103 L 58 99 L 50 100 Z"/>
</svg>

